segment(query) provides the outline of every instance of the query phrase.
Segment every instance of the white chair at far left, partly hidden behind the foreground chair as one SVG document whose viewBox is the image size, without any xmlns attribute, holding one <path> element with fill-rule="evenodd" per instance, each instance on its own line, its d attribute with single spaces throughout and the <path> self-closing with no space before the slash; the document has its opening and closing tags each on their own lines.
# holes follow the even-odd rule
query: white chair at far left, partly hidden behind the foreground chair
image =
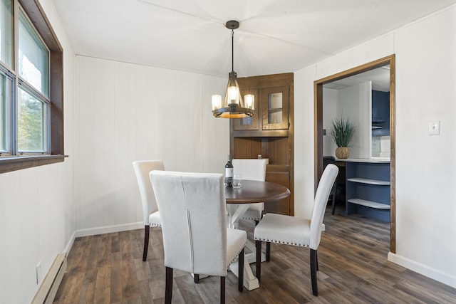
<svg viewBox="0 0 456 304">
<path fill-rule="evenodd" d="M 161 226 L 160 213 L 158 211 L 155 194 L 150 184 L 149 172 L 152 170 L 165 170 L 162 160 L 138 160 L 133 162 L 138 187 L 141 194 L 142 214 L 144 216 L 144 250 L 142 261 L 147 260 L 149 248 L 150 226 Z"/>
</svg>

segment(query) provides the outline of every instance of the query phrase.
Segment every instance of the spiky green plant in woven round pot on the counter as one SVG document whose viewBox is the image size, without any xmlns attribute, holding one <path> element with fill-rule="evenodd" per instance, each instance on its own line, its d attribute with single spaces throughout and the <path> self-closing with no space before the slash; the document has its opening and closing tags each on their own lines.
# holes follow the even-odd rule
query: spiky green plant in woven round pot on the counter
<svg viewBox="0 0 456 304">
<path fill-rule="evenodd" d="M 355 129 L 356 126 L 348 119 L 346 120 L 343 117 L 333 119 L 333 124 L 331 125 L 331 136 L 337 145 L 337 158 L 348 158 L 350 155 L 348 144 L 350 143 L 351 137 L 353 137 Z"/>
</svg>

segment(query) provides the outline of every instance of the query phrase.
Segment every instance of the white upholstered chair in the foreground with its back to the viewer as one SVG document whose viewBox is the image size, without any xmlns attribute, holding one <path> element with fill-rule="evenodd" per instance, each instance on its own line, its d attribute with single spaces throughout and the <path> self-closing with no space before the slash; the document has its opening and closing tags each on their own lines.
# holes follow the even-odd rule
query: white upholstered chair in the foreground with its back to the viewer
<svg viewBox="0 0 456 304">
<path fill-rule="evenodd" d="M 152 171 L 150 182 L 162 221 L 165 303 L 171 303 L 173 269 L 220 276 L 224 303 L 225 276 L 237 256 L 242 291 L 247 233 L 227 228 L 222 174 Z"/>
</svg>

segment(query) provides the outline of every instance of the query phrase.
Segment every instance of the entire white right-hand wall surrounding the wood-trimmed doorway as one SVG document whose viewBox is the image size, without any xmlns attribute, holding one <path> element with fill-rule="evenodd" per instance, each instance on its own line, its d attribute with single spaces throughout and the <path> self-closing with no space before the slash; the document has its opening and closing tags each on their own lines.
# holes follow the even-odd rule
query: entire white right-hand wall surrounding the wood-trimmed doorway
<svg viewBox="0 0 456 304">
<path fill-rule="evenodd" d="M 314 196 L 312 83 L 396 54 L 396 253 L 388 259 L 456 287 L 456 6 L 295 73 L 295 214 Z M 440 120 L 438 136 L 427 135 Z M 385 257 L 386 258 L 386 257 Z"/>
</svg>

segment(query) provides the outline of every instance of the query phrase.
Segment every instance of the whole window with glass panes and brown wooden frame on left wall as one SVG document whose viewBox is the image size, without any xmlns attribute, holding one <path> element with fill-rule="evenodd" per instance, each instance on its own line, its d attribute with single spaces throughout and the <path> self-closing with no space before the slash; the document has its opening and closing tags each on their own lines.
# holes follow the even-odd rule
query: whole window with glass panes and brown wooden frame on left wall
<svg viewBox="0 0 456 304">
<path fill-rule="evenodd" d="M 37 2 L 0 0 L 0 173 L 64 157 L 63 52 Z"/>
</svg>

